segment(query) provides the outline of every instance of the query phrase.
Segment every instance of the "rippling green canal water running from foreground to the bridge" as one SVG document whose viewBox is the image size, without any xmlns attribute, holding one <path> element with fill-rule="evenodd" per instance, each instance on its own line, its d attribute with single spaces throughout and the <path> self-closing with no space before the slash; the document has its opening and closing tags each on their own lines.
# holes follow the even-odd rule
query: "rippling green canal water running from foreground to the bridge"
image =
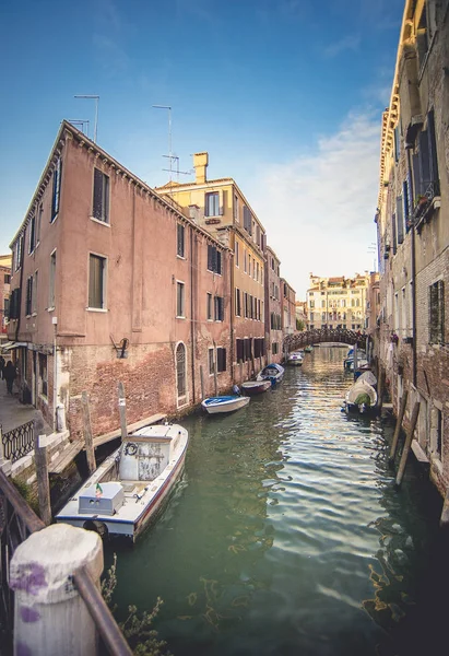
<svg viewBox="0 0 449 656">
<path fill-rule="evenodd" d="M 391 421 L 341 412 L 344 356 L 316 348 L 246 409 L 184 420 L 166 511 L 132 549 L 107 546 L 119 616 L 162 597 L 174 656 L 436 653 L 441 504 L 413 465 L 394 489 Z"/>
</svg>

